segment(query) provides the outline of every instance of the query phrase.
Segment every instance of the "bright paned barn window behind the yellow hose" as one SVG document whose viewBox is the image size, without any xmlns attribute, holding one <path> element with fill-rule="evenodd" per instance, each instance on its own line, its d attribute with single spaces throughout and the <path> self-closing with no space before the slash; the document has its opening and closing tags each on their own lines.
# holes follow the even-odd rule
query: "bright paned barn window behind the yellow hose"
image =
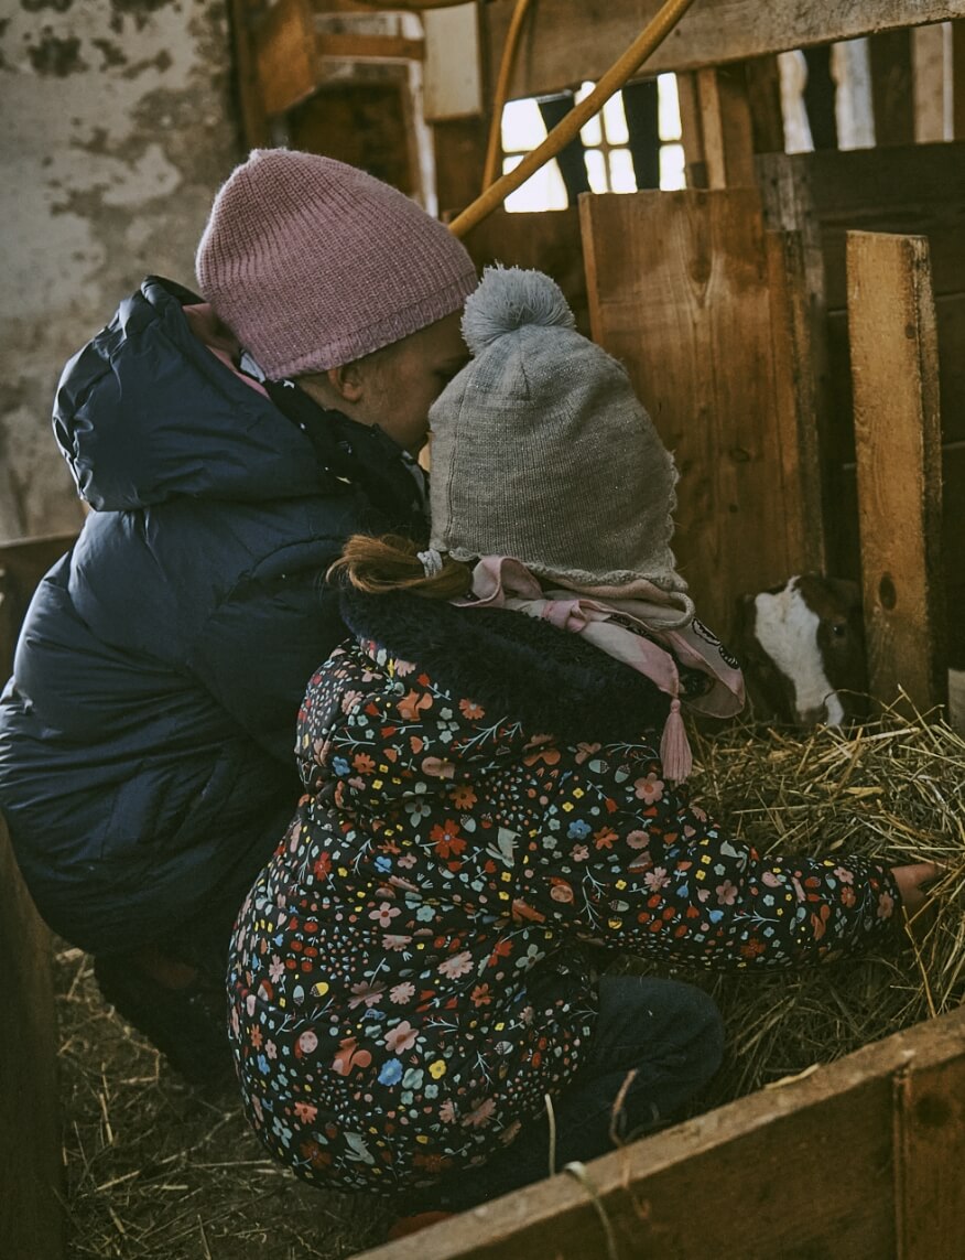
<svg viewBox="0 0 965 1260">
<path fill-rule="evenodd" d="M 593 83 L 577 92 L 510 101 L 503 111 L 503 171 L 545 140 L 547 131 Z M 612 96 L 580 131 L 578 141 L 510 193 L 508 210 L 559 210 L 580 193 L 632 193 L 637 188 L 684 188 L 684 150 L 677 77 L 634 83 Z"/>
</svg>

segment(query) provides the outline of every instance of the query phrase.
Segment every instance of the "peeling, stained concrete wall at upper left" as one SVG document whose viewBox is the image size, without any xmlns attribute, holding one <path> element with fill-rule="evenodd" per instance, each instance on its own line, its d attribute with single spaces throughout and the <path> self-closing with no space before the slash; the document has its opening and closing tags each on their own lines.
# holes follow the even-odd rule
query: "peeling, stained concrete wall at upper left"
<svg viewBox="0 0 965 1260">
<path fill-rule="evenodd" d="M 145 275 L 194 286 L 239 160 L 228 0 L 0 5 L 0 541 L 74 528 L 64 362 Z"/>
</svg>

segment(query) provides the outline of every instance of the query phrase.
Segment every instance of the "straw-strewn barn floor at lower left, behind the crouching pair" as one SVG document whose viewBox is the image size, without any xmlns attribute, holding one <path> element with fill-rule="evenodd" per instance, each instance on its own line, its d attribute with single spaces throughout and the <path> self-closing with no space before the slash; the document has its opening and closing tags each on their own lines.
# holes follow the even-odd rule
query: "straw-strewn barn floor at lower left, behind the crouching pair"
<svg viewBox="0 0 965 1260">
<path fill-rule="evenodd" d="M 181 1084 L 100 998 L 91 959 L 55 953 L 69 1260 L 340 1260 L 388 1213 L 265 1157 L 231 1095 Z"/>
</svg>

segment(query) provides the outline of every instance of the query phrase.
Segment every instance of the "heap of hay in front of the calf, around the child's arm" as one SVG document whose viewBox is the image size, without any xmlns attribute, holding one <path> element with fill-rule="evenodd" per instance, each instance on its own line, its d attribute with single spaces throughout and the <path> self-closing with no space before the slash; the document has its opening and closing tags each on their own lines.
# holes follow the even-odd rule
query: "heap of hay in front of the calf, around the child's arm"
<svg viewBox="0 0 965 1260">
<path fill-rule="evenodd" d="M 853 732 L 733 726 L 694 740 L 694 798 L 761 853 L 937 862 L 932 902 L 893 948 L 804 971 L 708 976 L 728 1050 L 707 1105 L 826 1063 L 965 998 L 965 740 L 896 712 Z M 640 970 L 639 965 L 631 965 Z"/>
</svg>

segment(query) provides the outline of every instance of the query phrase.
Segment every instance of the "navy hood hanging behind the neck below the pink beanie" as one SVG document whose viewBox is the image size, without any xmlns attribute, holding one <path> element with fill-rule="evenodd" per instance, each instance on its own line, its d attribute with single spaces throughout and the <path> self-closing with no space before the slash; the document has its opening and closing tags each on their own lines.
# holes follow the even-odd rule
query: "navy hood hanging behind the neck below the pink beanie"
<svg viewBox="0 0 965 1260">
<path fill-rule="evenodd" d="M 191 333 L 181 307 L 200 301 L 151 276 L 64 368 L 54 433 L 92 508 L 317 490 L 305 436 Z"/>
</svg>

